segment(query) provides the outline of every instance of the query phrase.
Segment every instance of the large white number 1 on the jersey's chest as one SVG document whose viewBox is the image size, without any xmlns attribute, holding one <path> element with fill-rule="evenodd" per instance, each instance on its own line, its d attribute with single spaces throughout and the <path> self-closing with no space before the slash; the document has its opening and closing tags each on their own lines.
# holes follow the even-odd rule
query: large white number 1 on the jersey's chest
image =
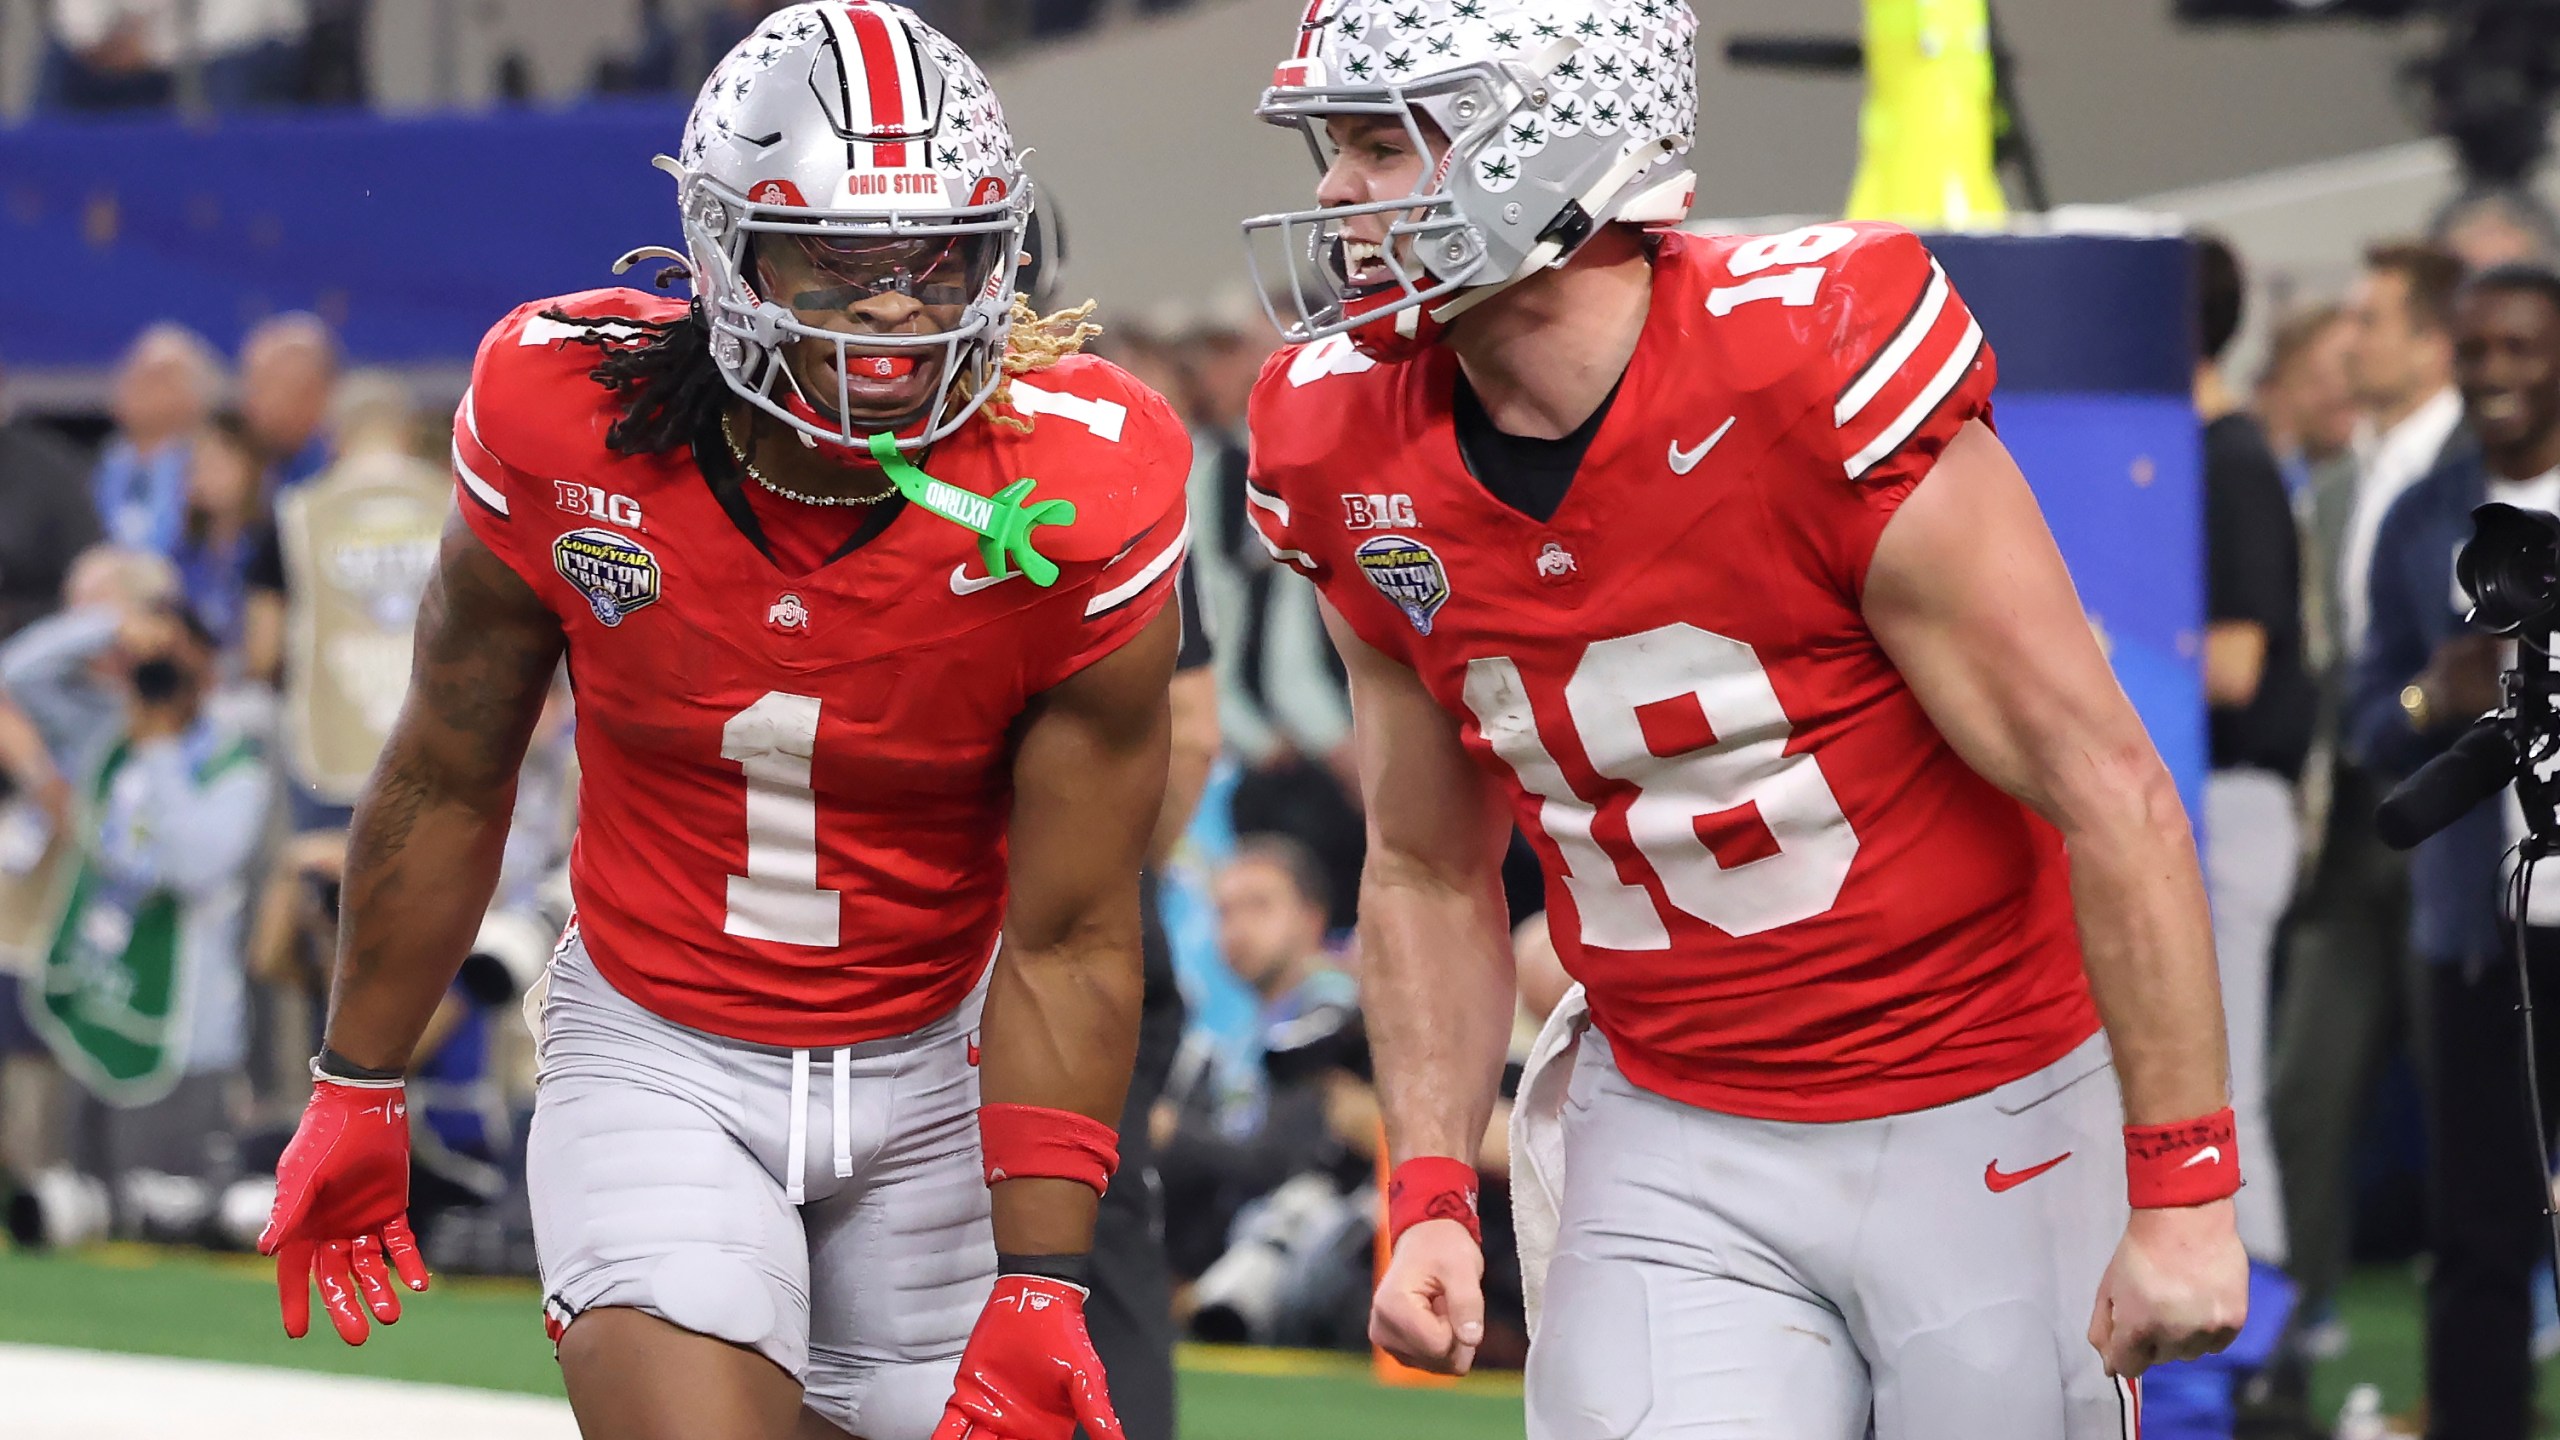
<svg viewBox="0 0 2560 1440">
<path fill-rule="evenodd" d="M 742 940 L 835 945 L 845 894 L 817 884 L 819 702 L 768 692 L 719 728 L 719 758 L 748 774 L 748 874 L 730 876 L 730 915 L 719 925 Z"/>
</svg>

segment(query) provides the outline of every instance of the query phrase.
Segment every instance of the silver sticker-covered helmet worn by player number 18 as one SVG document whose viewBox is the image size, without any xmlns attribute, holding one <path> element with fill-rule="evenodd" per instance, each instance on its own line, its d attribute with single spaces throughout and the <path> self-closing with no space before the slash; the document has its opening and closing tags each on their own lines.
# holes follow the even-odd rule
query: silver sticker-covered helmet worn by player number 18
<svg viewBox="0 0 2560 1440">
<path fill-rule="evenodd" d="M 1272 323 L 1290 341 L 1349 331 L 1405 354 L 1500 287 L 1572 256 L 1613 220 L 1669 225 L 1697 179 L 1687 0 L 1308 0 L 1257 115 L 1295 126 L 1318 172 L 1326 120 L 1385 115 L 1434 156 L 1413 195 L 1244 223 Z M 1428 123 L 1428 128 L 1426 128 Z M 1341 220 L 1390 215 L 1393 279 L 1354 284 Z"/>
</svg>

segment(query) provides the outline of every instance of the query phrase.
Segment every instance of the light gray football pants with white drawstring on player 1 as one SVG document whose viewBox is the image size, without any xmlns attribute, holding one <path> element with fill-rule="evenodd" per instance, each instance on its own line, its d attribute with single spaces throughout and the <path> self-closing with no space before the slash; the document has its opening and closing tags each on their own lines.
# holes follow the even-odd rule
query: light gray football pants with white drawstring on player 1
<svg viewBox="0 0 2560 1440">
<path fill-rule="evenodd" d="M 996 1281 L 970 1038 L 983 986 L 891 1040 L 778 1051 L 550 966 L 525 1166 L 543 1304 L 748 1345 L 863 1440 L 927 1440 Z"/>
</svg>

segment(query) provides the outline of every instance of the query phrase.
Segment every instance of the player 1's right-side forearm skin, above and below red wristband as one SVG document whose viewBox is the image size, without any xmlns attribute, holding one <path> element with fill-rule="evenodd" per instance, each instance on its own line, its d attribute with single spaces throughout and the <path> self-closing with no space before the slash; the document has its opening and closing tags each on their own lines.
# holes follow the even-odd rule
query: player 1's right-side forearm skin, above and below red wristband
<svg viewBox="0 0 2560 1440">
<path fill-rule="evenodd" d="M 1080 935 L 1047 945 L 1006 940 L 980 1020 L 978 1092 L 986 1104 L 1065 1109 L 1119 1127 L 1137 1063 L 1144 994 L 1137 897 Z M 1101 1197 L 1070 1179 L 993 1186 L 996 1250 L 1080 1256 L 1093 1248 Z"/>
</svg>

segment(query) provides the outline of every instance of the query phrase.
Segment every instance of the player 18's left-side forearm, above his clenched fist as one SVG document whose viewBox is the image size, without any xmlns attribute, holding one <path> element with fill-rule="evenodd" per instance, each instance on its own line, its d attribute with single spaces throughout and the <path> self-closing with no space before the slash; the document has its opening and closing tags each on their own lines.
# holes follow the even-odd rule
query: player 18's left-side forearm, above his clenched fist
<svg viewBox="0 0 2560 1440">
<path fill-rule="evenodd" d="M 1372 848 L 1359 881 L 1359 971 L 1388 1156 L 1472 1158 L 1518 1004 L 1498 876 L 1436 876 Z"/>
</svg>

